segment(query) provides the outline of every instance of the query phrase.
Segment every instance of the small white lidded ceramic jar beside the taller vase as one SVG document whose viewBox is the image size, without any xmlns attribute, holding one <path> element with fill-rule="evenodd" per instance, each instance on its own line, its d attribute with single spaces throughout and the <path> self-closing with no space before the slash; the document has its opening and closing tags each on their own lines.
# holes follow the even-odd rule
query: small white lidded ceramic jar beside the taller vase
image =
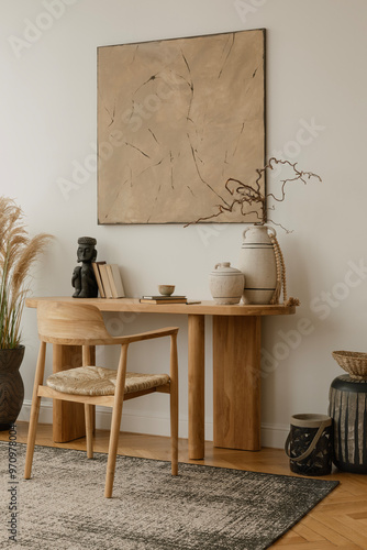
<svg viewBox="0 0 367 550">
<path fill-rule="evenodd" d="M 245 276 L 230 262 L 216 264 L 209 277 L 209 288 L 216 304 L 238 304 L 244 292 Z"/>
</svg>

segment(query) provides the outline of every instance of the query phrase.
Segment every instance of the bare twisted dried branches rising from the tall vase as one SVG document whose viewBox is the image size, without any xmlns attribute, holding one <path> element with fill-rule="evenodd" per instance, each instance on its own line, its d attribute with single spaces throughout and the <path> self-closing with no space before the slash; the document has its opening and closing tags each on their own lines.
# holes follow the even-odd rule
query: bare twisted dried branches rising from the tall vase
<svg viewBox="0 0 367 550">
<path fill-rule="evenodd" d="M 280 195 L 276 196 L 274 193 L 262 193 L 260 180 L 265 176 L 266 170 L 273 170 L 275 166 L 278 164 L 288 166 L 292 169 L 292 177 L 287 177 L 280 180 Z M 225 182 L 225 190 L 229 193 L 230 197 L 227 200 L 222 198 L 223 204 L 216 205 L 216 211 L 210 216 L 205 216 L 199 218 L 194 222 L 187 223 L 185 227 L 190 226 L 191 223 L 200 223 L 201 221 L 212 220 L 214 218 L 219 218 L 224 212 L 233 212 L 234 209 L 238 209 L 244 218 L 249 215 L 255 213 L 258 218 L 258 223 L 264 224 L 266 221 L 270 221 L 275 226 L 279 226 L 285 231 L 289 232 L 286 228 L 283 228 L 280 223 L 276 223 L 274 220 L 268 218 L 268 211 L 275 210 L 275 206 L 267 206 L 268 198 L 273 198 L 277 202 L 282 202 L 286 198 L 286 186 L 291 182 L 300 180 L 303 184 L 307 184 L 311 178 L 316 178 L 320 182 L 322 180 L 318 174 L 313 174 L 312 172 L 304 172 L 297 168 L 298 163 L 291 163 L 289 161 L 283 161 L 279 158 L 271 157 L 269 162 L 263 167 L 256 169 L 257 178 L 254 184 L 244 184 L 240 182 L 240 179 L 229 178 Z M 260 205 L 260 209 L 247 210 L 248 206 Z M 244 220 L 245 221 L 245 220 Z"/>
</svg>

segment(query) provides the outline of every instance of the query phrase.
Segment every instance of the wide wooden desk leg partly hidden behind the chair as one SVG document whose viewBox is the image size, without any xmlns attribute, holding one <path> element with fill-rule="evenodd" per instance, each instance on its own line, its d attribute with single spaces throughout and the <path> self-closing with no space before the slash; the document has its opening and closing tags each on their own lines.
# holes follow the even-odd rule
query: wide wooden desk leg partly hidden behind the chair
<svg viewBox="0 0 367 550">
<path fill-rule="evenodd" d="M 94 363 L 94 351 L 91 351 Z M 53 344 L 53 372 L 81 365 L 81 348 L 77 345 Z M 53 403 L 53 438 L 55 443 L 65 443 L 86 435 L 84 405 L 79 403 Z"/>
</svg>

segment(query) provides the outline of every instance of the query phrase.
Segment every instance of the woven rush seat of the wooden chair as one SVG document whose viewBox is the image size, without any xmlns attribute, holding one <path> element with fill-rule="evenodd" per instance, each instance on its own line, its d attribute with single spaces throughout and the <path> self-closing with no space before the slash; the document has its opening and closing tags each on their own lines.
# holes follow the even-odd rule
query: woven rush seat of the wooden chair
<svg viewBox="0 0 367 550">
<path fill-rule="evenodd" d="M 103 366 L 79 366 L 48 376 L 48 387 L 65 394 L 114 395 L 118 371 Z M 168 374 L 126 373 L 125 394 L 168 384 Z"/>
</svg>

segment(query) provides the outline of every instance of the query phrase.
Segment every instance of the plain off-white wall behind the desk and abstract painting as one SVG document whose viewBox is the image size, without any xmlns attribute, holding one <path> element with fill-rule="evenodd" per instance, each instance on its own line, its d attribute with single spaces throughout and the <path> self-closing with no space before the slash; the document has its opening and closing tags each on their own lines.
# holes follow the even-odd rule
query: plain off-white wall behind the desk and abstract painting
<svg viewBox="0 0 367 550">
<path fill-rule="evenodd" d="M 48 11 L 46 9 L 48 7 Z M 53 10 L 54 15 L 45 16 Z M 216 262 L 236 265 L 242 227 L 97 226 L 97 178 L 90 169 L 97 136 L 97 64 L 100 45 L 245 29 L 267 30 L 267 147 L 322 176 L 294 186 L 276 212 L 293 230 L 279 231 L 296 316 L 264 320 L 263 427 L 266 446 L 281 447 L 294 413 L 326 413 L 331 381 L 342 373 L 332 350 L 366 348 L 365 242 L 367 4 L 364 0 L 1 0 L 1 194 L 26 213 L 31 234 L 55 241 L 34 270 L 34 295 L 70 295 L 76 242 L 98 240 L 99 257 L 122 266 L 130 296 L 177 285 L 209 299 Z M 36 23 L 44 30 L 31 32 Z M 47 29 L 46 29 L 47 28 Z M 23 41 L 23 42 L 22 42 Z M 311 131 L 303 131 L 311 125 Z M 75 163 L 89 166 L 82 185 L 60 193 Z M 207 228 L 208 229 L 208 228 Z M 359 270 L 356 267 L 359 266 Z M 360 267 L 362 266 L 362 267 Z M 305 318 L 309 333 L 298 331 Z M 180 327 L 180 419 L 187 436 L 185 319 L 111 316 L 115 330 L 162 323 Z M 22 365 L 29 415 L 37 351 L 35 311 L 24 314 Z M 211 341 L 208 319 L 207 438 L 212 433 Z M 163 353 L 155 355 L 155 360 Z M 48 365 L 49 372 L 49 365 Z M 151 402 L 146 402 L 151 403 Z M 153 400 L 152 400 L 153 404 Z M 167 433 L 163 405 L 126 404 L 124 428 Z M 45 406 L 43 420 L 51 421 Z M 99 421 L 103 425 L 103 415 Z"/>
</svg>

